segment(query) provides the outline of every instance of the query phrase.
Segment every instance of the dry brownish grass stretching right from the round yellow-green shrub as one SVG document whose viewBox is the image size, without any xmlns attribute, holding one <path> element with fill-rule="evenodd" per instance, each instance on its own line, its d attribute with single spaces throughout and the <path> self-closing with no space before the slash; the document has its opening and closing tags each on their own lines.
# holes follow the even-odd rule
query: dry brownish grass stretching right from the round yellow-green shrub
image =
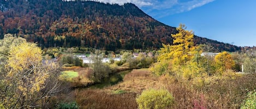
<svg viewBox="0 0 256 109">
<path fill-rule="evenodd" d="M 174 95 L 174 108 L 240 108 L 248 91 L 256 88 L 256 75 L 217 80 L 200 88 L 189 82 L 163 79 L 160 82 Z"/>
</svg>

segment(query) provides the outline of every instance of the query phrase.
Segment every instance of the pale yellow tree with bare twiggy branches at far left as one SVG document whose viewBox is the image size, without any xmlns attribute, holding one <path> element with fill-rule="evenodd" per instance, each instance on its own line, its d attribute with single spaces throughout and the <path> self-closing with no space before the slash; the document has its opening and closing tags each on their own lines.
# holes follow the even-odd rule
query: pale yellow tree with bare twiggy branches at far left
<svg viewBox="0 0 256 109">
<path fill-rule="evenodd" d="M 41 53 L 35 43 L 22 42 L 10 46 L 5 66 L 6 86 L 2 92 L 5 107 L 35 108 L 39 100 L 43 104 L 57 91 L 59 67 L 53 62 L 43 62 Z"/>
</svg>

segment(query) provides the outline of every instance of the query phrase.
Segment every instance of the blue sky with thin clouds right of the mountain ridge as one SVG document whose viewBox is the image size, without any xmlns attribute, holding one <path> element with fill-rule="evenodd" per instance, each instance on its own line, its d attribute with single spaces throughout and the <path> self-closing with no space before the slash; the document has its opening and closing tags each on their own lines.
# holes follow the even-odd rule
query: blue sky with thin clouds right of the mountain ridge
<svg viewBox="0 0 256 109">
<path fill-rule="evenodd" d="M 236 46 L 256 46 L 255 0 L 98 0 L 133 3 L 146 14 L 171 27 Z"/>
</svg>

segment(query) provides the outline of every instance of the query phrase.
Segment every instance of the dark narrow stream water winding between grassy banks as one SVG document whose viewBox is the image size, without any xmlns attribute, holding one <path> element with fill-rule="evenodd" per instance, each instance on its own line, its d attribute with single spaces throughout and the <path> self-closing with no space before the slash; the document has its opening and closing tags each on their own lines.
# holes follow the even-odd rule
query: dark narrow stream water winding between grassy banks
<svg viewBox="0 0 256 109">
<path fill-rule="evenodd" d="M 108 87 L 108 86 L 112 86 L 115 84 L 118 84 L 118 82 L 123 81 L 123 78 L 126 74 L 132 72 L 132 70 L 124 70 L 115 74 L 110 74 L 108 78 L 104 78 L 102 80 L 102 82 L 98 83 L 98 84 L 94 84 L 91 86 L 88 86 L 88 88 L 104 88 L 104 87 Z"/>
</svg>

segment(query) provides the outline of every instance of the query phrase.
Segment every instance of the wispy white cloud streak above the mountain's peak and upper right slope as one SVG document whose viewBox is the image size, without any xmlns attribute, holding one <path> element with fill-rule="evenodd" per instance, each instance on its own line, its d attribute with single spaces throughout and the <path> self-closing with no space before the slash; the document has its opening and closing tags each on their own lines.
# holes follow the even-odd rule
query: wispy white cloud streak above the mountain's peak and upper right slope
<svg viewBox="0 0 256 109">
<path fill-rule="evenodd" d="M 66 0 L 72 1 L 72 0 Z M 190 11 L 194 8 L 201 7 L 207 3 L 215 0 L 87 0 L 98 1 L 103 3 L 117 3 L 123 5 L 124 3 L 133 3 L 147 14 L 155 18 L 177 14 L 181 12 Z"/>
</svg>

